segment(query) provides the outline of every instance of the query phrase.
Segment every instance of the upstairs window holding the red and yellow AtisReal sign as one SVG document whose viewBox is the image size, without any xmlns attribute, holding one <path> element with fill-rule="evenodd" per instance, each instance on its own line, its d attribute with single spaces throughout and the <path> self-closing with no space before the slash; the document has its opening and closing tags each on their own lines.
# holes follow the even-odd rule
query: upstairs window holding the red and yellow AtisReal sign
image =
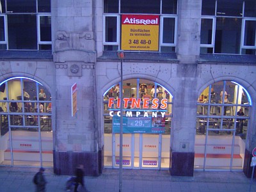
<svg viewBox="0 0 256 192">
<path fill-rule="evenodd" d="M 129 15 L 131 20 L 137 20 L 134 28 L 125 31 L 122 17 Z M 152 15 L 156 21 L 152 19 Z M 154 52 L 175 52 L 176 35 L 177 35 L 177 0 L 159 0 L 159 1 L 117 1 L 104 0 L 104 32 L 103 45 L 104 51 L 116 51 L 123 49 L 125 51 L 154 51 Z M 148 19 L 149 18 L 149 19 Z M 136 28 L 135 24 L 142 22 L 141 28 Z M 142 21 L 141 21 L 142 20 Z M 157 28 L 145 28 L 150 25 L 150 20 L 157 25 Z M 133 21 L 131 21 L 133 22 Z M 131 23 L 130 23 L 131 24 Z M 122 35 L 131 38 L 127 39 L 128 48 L 124 46 L 125 41 L 120 40 Z M 136 32 L 134 32 L 136 31 Z M 129 36 L 128 35 L 128 36 Z M 136 36 L 136 37 L 134 37 Z M 150 37 L 148 37 L 150 36 Z M 153 38 L 154 36 L 154 38 Z M 127 38 L 127 37 L 125 37 Z M 152 38 L 152 39 L 151 39 Z M 121 43 L 122 42 L 122 43 Z M 123 45 L 122 45 L 123 44 Z M 150 46 L 154 48 L 150 49 Z"/>
</svg>

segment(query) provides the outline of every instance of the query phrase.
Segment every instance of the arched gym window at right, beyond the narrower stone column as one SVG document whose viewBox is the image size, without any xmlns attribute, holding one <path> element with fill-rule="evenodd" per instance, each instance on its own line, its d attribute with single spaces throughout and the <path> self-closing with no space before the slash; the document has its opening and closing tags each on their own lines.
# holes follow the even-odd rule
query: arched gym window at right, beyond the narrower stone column
<svg viewBox="0 0 256 192">
<path fill-rule="evenodd" d="M 235 82 L 205 88 L 197 104 L 196 168 L 243 168 L 250 106 L 250 95 Z"/>
</svg>

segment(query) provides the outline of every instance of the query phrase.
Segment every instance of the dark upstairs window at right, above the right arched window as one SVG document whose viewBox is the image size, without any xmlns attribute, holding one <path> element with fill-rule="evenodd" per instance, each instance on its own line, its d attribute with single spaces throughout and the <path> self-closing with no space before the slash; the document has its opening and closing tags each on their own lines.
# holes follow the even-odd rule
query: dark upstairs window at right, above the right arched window
<svg viewBox="0 0 256 192">
<path fill-rule="evenodd" d="M 254 0 L 203 0 L 201 53 L 254 54 Z"/>
</svg>

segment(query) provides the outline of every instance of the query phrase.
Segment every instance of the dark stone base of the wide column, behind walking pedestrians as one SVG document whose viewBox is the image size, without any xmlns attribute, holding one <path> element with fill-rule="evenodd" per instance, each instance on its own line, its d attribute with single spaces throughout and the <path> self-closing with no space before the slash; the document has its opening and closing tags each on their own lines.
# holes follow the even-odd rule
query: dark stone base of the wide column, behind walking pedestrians
<svg viewBox="0 0 256 192">
<path fill-rule="evenodd" d="M 77 165 L 83 164 L 84 176 L 99 176 L 99 154 L 93 152 L 56 152 L 53 151 L 54 173 L 75 175 Z"/>
</svg>

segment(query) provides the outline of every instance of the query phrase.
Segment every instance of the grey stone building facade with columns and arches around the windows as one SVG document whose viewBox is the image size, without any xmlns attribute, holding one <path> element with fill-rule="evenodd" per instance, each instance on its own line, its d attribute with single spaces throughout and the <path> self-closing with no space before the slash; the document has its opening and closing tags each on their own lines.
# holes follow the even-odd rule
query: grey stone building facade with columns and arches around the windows
<svg viewBox="0 0 256 192">
<path fill-rule="evenodd" d="M 52 51 L 0 51 L 1 82 L 28 77 L 44 84 L 51 93 L 52 161 L 56 174 L 72 174 L 77 164 L 84 164 L 86 175 L 100 175 L 104 168 L 103 97 L 120 82 L 116 51 L 104 51 L 104 2 L 52 0 Z M 176 51 L 125 51 L 123 77 L 147 79 L 172 93 L 170 173 L 184 176 L 193 176 L 195 170 L 200 93 L 222 81 L 243 86 L 252 99 L 243 159 L 243 171 L 249 177 L 252 150 L 256 147 L 256 56 L 201 54 L 201 11 L 201 0 L 178 1 Z M 74 83 L 77 114 L 72 116 L 70 88 Z"/>
</svg>

